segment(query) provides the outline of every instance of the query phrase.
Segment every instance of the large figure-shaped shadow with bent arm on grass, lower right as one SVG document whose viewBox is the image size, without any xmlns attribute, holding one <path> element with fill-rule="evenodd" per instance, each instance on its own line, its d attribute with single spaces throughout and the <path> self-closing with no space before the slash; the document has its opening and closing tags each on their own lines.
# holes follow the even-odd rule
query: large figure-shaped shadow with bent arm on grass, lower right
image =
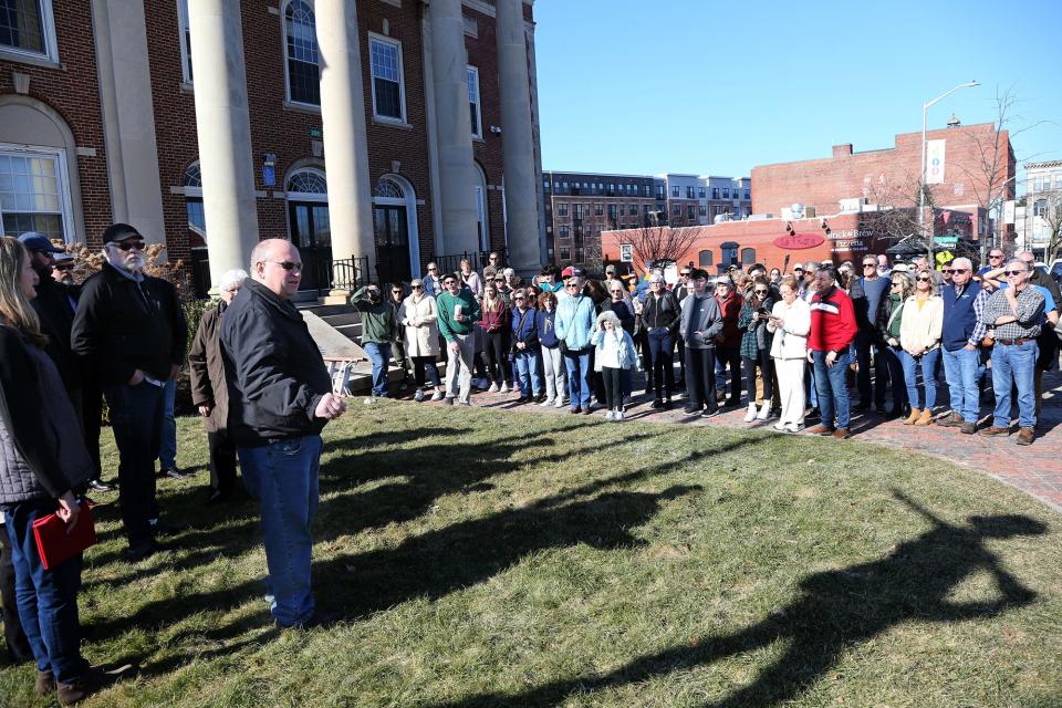
<svg viewBox="0 0 1062 708">
<path fill-rule="evenodd" d="M 706 704 L 712 708 L 779 706 L 822 678 L 843 652 L 900 623 L 987 620 L 1037 597 L 1003 570 L 985 542 L 1042 534 L 1044 524 L 1021 516 L 970 517 L 965 525 L 950 524 L 899 491 L 894 494 L 933 528 L 878 561 L 809 575 L 800 584 L 799 600 L 751 627 L 642 656 L 610 674 L 553 681 L 521 694 L 479 695 L 435 708 L 558 706 L 575 694 L 638 684 L 783 639 L 788 642 L 785 653 L 751 684 Z M 997 597 L 948 601 L 948 594 L 977 571 L 991 573 Z"/>
</svg>

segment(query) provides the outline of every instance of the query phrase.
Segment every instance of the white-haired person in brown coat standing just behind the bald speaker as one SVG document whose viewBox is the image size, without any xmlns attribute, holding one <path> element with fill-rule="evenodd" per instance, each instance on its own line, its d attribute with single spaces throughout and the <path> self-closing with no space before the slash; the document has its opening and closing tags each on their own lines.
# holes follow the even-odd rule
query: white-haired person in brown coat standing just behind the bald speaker
<svg viewBox="0 0 1062 708">
<path fill-rule="evenodd" d="M 188 368 L 191 374 L 191 403 L 199 408 L 204 427 L 207 428 L 207 446 L 210 448 L 209 503 L 229 501 L 236 491 L 236 445 L 229 437 L 229 389 L 225 383 L 221 365 L 221 315 L 240 292 L 247 271 L 230 270 L 218 283 L 220 302 L 202 314 L 196 339 L 188 352 Z"/>
</svg>

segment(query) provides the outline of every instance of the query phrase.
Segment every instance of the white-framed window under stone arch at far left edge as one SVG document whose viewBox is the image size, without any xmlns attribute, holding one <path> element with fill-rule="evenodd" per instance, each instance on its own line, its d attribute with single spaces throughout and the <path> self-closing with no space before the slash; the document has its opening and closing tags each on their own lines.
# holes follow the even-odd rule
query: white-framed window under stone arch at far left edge
<svg viewBox="0 0 1062 708">
<path fill-rule="evenodd" d="M 0 222 L 4 236 L 39 231 L 66 240 L 72 220 L 63 153 L 0 145 Z"/>
</svg>

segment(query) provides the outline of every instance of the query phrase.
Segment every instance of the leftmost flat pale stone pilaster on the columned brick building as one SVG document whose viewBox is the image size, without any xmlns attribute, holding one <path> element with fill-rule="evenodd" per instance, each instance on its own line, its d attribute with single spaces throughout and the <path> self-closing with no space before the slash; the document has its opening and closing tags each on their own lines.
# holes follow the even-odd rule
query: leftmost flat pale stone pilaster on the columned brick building
<svg viewBox="0 0 1062 708">
<path fill-rule="evenodd" d="M 122 3 L 121 9 L 105 0 L 92 4 L 114 220 L 135 226 L 148 242 L 163 243 L 166 221 L 144 3 Z"/>
</svg>

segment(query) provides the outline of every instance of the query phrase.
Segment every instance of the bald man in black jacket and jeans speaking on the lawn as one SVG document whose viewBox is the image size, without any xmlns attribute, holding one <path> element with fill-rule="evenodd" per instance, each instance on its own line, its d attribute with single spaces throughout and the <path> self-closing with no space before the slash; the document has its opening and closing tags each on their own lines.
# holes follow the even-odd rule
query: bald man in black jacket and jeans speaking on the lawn
<svg viewBox="0 0 1062 708">
<path fill-rule="evenodd" d="M 282 627 L 313 620 L 310 590 L 321 430 L 346 410 L 302 315 L 299 249 L 282 239 L 251 252 L 251 277 L 221 320 L 229 434 L 243 483 L 258 497 L 270 611 Z"/>
</svg>

